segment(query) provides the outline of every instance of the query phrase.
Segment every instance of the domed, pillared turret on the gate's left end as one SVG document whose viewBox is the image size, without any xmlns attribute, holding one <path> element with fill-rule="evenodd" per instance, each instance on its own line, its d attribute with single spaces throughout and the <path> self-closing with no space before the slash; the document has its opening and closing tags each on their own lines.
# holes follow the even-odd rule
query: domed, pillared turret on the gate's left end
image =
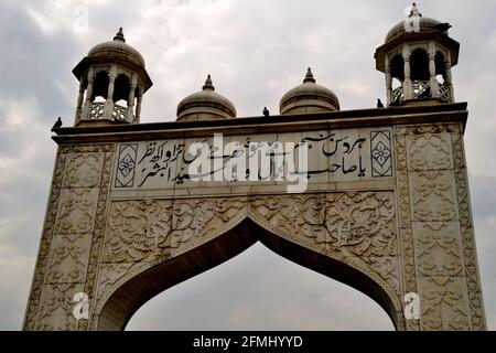
<svg viewBox="0 0 496 353">
<path fill-rule="evenodd" d="M 152 82 L 143 56 L 126 44 L 122 29 L 112 41 L 94 46 L 73 74 L 79 81 L 75 126 L 140 122 L 143 94 Z"/>
</svg>

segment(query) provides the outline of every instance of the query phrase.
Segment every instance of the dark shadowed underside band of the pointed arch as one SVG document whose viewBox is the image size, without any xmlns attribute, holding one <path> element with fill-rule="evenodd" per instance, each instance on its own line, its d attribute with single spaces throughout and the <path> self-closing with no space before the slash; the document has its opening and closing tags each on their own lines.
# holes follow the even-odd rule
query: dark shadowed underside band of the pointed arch
<svg viewBox="0 0 496 353">
<path fill-rule="evenodd" d="M 385 313 L 382 314 L 389 315 L 389 320 L 392 322 L 395 328 L 398 328 L 399 320 L 401 320 L 400 314 L 402 313 L 401 311 L 398 311 L 398 303 L 395 303 L 395 300 L 397 299 L 390 297 L 387 290 L 371 277 L 345 263 L 335 260 L 320 253 L 315 253 L 306 247 L 274 235 L 256 224 L 254 221 L 246 218 L 238 226 L 216 237 L 215 239 L 193 248 L 192 250 L 177 257 L 165 260 L 162 264 L 157 265 L 127 280 L 110 295 L 109 299 L 103 306 L 103 309 L 98 314 L 97 329 L 125 329 L 128 321 L 138 311 L 138 309 L 153 297 L 175 285 L 179 285 L 236 257 L 257 242 L 277 255 L 294 264 L 301 265 L 317 274 L 322 274 L 328 278 L 348 285 L 374 299 L 384 309 Z M 267 280 L 270 281 L 270 278 Z M 274 280 L 277 281 L 277 278 L 274 278 Z M 291 280 L 291 276 L 289 280 Z M 298 287 L 295 278 L 292 280 L 292 285 Z M 260 281 L 260 278 L 256 278 L 255 285 L 262 286 L 263 281 Z M 218 288 L 218 290 L 222 290 L 222 288 Z M 268 290 L 270 290 L 270 288 L 268 288 Z M 341 302 L 341 306 L 348 308 L 354 306 L 354 301 L 351 300 L 351 297 L 356 296 L 349 293 L 351 291 L 348 291 L 347 295 L 342 292 L 343 302 Z M 322 292 L 315 288 L 313 295 L 322 296 Z M 197 292 L 196 296 L 202 296 L 202 292 Z M 270 298 L 270 296 L 271 293 L 267 291 L 267 297 Z M 290 292 L 288 296 L 291 298 Z M 330 292 L 328 296 L 332 296 L 332 293 Z M 301 299 L 304 300 L 303 298 Z M 309 310 L 319 309 L 310 306 L 311 302 L 315 301 L 312 297 L 306 299 L 309 300 Z M 326 304 L 325 296 L 322 304 Z M 184 310 L 187 310 L 187 308 L 184 308 Z M 249 308 L 247 310 L 249 310 Z M 327 322 L 328 329 L 332 329 L 334 324 L 338 325 L 338 322 L 333 323 L 333 320 L 338 321 L 339 319 L 333 318 L 332 308 L 330 310 L 331 311 L 327 311 L 330 312 L 330 317 L 319 319 L 323 321 L 321 329 L 323 329 Z M 201 314 L 201 312 L 198 314 Z M 267 314 L 281 315 L 284 313 L 274 311 L 267 312 Z M 374 313 L 370 314 L 374 317 Z M 360 325 L 360 313 L 357 313 L 355 321 L 353 322 L 356 325 L 356 329 L 373 329 L 371 327 L 364 328 Z M 337 325 L 334 328 L 337 329 Z M 162 329 L 169 328 L 165 327 Z M 226 327 L 225 329 L 227 330 L 229 328 Z M 300 329 L 305 329 L 305 324 L 301 323 Z M 346 327 L 346 329 L 352 329 L 352 324 Z M 391 328 L 384 325 L 382 329 Z"/>
</svg>

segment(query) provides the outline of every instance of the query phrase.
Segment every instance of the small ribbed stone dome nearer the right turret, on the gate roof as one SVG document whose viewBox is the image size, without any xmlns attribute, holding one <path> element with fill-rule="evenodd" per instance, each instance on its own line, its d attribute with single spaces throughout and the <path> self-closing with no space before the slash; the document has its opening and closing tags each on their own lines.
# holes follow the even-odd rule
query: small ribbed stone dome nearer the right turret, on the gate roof
<svg viewBox="0 0 496 353">
<path fill-rule="evenodd" d="M 339 110 L 339 100 L 328 88 L 317 85 L 309 67 L 303 84 L 288 90 L 279 103 L 279 113 L 323 113 Z"/>
</svg>

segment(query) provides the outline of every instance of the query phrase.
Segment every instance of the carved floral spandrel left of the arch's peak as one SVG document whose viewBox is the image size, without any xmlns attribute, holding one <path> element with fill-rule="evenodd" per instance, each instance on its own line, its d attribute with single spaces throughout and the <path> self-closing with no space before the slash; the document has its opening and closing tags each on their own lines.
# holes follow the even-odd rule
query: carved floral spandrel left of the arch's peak
<svg viewBox="0 0 496 353">
<path fill-rule="evenodd" d="M 172 256 L 244 215 L 246 199 L 141 200 L 111 204 L 104 261 L 134 263 Z M 174 249 L 174 252 L 173 252 Z M 172 253 L 173 252 L 173 253 Z"/>
</svg>

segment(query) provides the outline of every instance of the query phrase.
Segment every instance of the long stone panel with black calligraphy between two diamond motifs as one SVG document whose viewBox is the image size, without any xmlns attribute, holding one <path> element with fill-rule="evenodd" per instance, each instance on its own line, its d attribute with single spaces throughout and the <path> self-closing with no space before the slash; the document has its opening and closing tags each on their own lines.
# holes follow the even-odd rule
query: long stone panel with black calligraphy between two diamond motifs
<svg viewBox="0 0 496 353">
<path fill-rule="evenodd" d="M 392 176 L 390 137 L 388 129 L 364 128 L 126 142 L 117 148 L 112 188 L 249 188 L 294 184 L 298 178 L 304 178 L 305 184 L 388 180 Z M 198 142 L 207 147 L 206 153 L 193 148 Z M 209 165 L 198 174 L 202 158 Z M 241 159 L 244 178 L 229 172 Z"/>
</svg>

